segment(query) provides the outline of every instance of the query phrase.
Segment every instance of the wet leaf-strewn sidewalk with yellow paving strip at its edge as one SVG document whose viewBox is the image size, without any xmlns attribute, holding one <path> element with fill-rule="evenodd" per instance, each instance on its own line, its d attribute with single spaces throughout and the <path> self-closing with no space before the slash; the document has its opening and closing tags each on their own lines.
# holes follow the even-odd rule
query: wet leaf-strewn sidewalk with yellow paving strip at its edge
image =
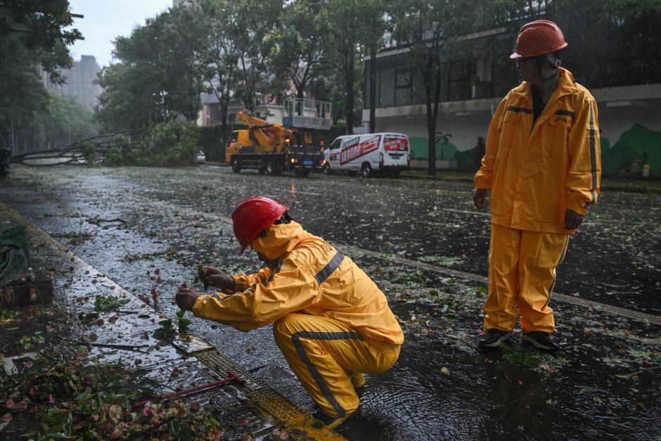
<svg viewBox="0 0 661 441">
<path fill-rule="evenodd" d="M 175 336 L 168 326 L 176 329 L 177 317 L 159 316 L 27 219 L 0 208 L 0 229 L 26 227 L 34 273 L 51 274 L 55 290 L 52 305 L 41 305 L 37 295 L 30 307 L 0 310 L 2 439 L 26 433 L 44 440 L 343 439 L 316 428 L 307 411 L 203 340 Z M 222 380 L 229 371 L 245 383 L 134 406 Z"/>
</svg>

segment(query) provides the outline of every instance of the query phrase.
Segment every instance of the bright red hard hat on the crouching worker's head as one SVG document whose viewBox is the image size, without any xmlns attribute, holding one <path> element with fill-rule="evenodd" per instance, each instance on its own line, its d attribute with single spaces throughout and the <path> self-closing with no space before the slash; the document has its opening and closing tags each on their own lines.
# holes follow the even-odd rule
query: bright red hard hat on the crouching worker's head
<svg viewBox="0 0 661 441">
<path fill-rule="evenodd" d="M 239 254 L 252 243 L 263 229 L 278 220 L 287 207 L 271 198 L 255 196 L 244 200 L 232 213 L 234 236 L 241 246 Z"/>
</svg>

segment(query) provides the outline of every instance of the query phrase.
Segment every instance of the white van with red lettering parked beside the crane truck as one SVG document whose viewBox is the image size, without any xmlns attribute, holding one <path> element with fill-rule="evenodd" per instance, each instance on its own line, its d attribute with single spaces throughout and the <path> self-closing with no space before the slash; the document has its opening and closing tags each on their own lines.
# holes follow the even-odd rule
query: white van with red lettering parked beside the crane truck
<svg viewBox="0 0 661 441">
<path fill-rule="evenodd" d="M 409 136 L 400 133 L 338 136 L 323 155 L 323 172 L 361 172 L 363 177 L 373 172 L 397 177 L 402 170 L 409 170 L 411 161 Z"/>
</svg>

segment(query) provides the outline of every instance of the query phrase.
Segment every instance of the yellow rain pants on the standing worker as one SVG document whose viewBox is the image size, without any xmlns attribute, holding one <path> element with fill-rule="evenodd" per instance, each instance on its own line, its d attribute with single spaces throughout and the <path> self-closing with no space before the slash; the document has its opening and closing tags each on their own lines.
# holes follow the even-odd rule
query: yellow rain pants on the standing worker
<svg viewBox="0 0 661 441">
<path fill-rule="evenodd" d="M 568 241 L 567 234 L 492 224 L 484 331 L 512 331 L 517 307 L 523 332 L 556 330 L 548 301 L 556 283 L 556 267 L 565 257 Z"/>
</svg>

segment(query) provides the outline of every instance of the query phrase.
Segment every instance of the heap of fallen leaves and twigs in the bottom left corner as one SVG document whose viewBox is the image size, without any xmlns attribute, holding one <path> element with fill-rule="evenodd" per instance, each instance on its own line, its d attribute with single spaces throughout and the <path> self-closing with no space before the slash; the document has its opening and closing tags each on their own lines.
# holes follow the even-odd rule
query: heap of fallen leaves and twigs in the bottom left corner
<svg viewBox="0 0 661 441">
<path fill-rule="evenodd" d="M 85 352 L 76 354 L 66 361 L 60 353 L 40 351 L 23 371 L 0 377 L 0 414 L 11 422 L 4 436 L 18 430 L 39 441 L 221 437 L 210 406 L 199 409 L 177 398 L 132 409 L 155 397 L 160 385 L 145 371 L 94 364 Z"/>
</svg>

